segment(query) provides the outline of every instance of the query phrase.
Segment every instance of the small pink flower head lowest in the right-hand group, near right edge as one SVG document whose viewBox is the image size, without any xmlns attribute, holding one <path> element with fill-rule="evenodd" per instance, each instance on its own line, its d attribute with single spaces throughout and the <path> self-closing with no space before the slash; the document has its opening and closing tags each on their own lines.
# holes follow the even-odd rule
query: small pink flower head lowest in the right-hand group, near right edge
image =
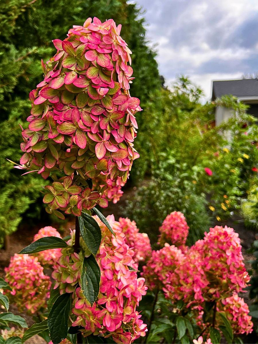
<svg viewBox="0 0 258 344">
<path fill-rule="evenodd" d="M 237 293 L 223 299 L 223 311 L 227 314 L 233 331 L 236 334 L 251 333 L 253 323 L 251 322 L 251 315 L 248 315 L 249 308 L 243 298 L 240 298 Z"/>
</svg>

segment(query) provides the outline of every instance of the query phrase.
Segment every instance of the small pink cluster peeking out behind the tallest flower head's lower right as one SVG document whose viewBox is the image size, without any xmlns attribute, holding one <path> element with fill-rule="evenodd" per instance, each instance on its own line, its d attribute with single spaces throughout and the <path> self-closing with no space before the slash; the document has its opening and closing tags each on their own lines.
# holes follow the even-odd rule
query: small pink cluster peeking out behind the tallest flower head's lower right
<svg viewBox="0 0 258 344">
<path fill-rule="evenodd" d="M 108 173 L 101 172 L 96 178 L 94 178 L 93 188 L 95 190 L 97 188 L 102 188 L 105 185 L 107 186 L 107 189 L 104 191 L 103 197 L 106 198 L 108 202 L 112 201 L 116 204 L 123 194 L 121 189 L 125 183 L 122 181 L 121 177 L 117 177 L 115 180 L 112 180 L 108 178 Z"/>
</svg>

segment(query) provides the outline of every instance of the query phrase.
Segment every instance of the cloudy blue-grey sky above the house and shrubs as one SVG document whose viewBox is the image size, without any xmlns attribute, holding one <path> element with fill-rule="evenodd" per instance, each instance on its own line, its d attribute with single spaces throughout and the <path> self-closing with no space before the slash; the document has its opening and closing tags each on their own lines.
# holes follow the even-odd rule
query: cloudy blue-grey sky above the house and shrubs
<svg viewBox="0 0 258 344">
<path fill-rule="evenodd" d="M 183 74 L 211 97 L 211 81 L 258 72 L 257 0 L 132 0 L 170 85 Z"/>
</svg>

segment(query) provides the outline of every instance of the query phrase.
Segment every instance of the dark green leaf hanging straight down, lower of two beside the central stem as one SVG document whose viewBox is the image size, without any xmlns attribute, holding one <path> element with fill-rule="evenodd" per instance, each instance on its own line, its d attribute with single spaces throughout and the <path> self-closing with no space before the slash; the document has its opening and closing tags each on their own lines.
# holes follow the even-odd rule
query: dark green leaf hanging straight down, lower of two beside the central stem
<svg viewBox="0 0 258 344">
<path fill-rule="evenodd" d="M 100 268 L 93 255 L 85 257 L 81 275 L 82 292 L 88 302 L 93 305 L 99 294 Z"/>
</svg>

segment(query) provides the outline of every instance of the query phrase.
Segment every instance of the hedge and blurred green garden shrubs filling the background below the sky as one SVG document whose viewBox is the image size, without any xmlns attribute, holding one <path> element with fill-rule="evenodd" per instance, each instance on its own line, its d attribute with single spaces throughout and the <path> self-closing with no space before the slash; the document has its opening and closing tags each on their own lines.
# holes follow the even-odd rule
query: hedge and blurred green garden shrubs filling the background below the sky
<svg viewBox="0 0 258 344">
<path fill-rule="evenodd" d="M 51 222 L 40 194 L 45 181 L 29 174 L 21 177 L 6 159 L 18 161 L 21 129 L 30 113 L 28 95 L 43 79 L 41 58 L 55 53 L 53 39 L 64 39 L 72 25 L 88 17 L 112 17 L 122 24 L 121 36 L 132 51 L 132 96 L 143 111 L 127 188 L 137 191 L 125 216 L 155 238 L 170 212 L 182 211 L 190 226 L 189 244 L 218 221 L 234 216 L 257 225 L 256 192 L 258 130 L 255 118 L 234 97 L 203 104 L 202 91 L 186 77 L 169 90 L 159 75 L 155 51 L 146 42 L 144 19 L 126 0 L 3 0 L 0 3 L 0 235 L 10 234 L 23 219 Z M 235 116 L 214 126 L 216 106 L 233 108 Z M 227 135 L 224 135 L 227 133 Z M 230 137 L 230 140 L 228 139 Z M 240 160 L 239 160 L 240 159 Z M 212 170 L 212 176 L 204 168 Z M 251 203 L 251 206 L 250 206 Z M 255 205 L 253 204 L 255 203 Z M 157 240 L 154 240 L 157 241 Z"/>
</svg>

